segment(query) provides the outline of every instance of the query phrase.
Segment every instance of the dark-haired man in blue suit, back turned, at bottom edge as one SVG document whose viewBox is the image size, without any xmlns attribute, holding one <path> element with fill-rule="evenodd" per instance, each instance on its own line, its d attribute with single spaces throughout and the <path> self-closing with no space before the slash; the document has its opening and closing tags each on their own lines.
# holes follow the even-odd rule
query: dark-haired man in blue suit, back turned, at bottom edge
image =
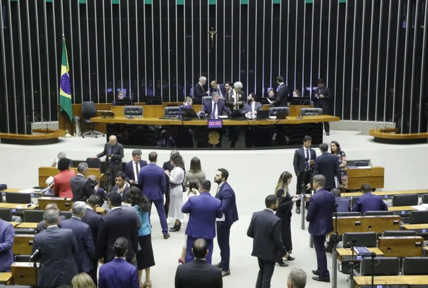
<svg viewBox="0 0 428 288">
<path fill-rule="evenodd" d="M 140 288 L 137 267 L 126 262 L 128 241 L 116 239 L 113 245 L 114 259 L 100 267 L 98 288 Z"/>
</svg>

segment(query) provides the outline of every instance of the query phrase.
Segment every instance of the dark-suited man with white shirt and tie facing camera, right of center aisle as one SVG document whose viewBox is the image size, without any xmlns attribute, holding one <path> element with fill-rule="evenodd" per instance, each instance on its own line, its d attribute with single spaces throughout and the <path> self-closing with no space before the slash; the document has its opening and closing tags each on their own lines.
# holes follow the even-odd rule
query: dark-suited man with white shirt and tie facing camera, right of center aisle
<svg viewBox="0 0 428 288">
<path fill-rule="evenodd" d="M 311 148 L 312 137 L 303 137 L 303 147 L 294 152 L 293 166 L 297 177 L 296 195 L 302 193 L 302 182 L 306 187 L 311 181 L 311 166 L 314 164 L 317 153 Z M 296 214 L 300 214 L 301 200 L 296 201 Z M 306 205 L 307 208 L 307 205 Z"/>
</svg>

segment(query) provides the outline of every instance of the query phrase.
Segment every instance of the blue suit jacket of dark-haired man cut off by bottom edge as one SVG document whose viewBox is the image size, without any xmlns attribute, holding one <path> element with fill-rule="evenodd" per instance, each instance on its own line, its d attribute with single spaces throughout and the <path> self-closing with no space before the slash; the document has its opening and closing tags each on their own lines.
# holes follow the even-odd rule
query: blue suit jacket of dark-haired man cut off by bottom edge
<svg viewBox="0 0 428 288">
<path fill-rule="evenodd" d="M 100 267 L 98 288 L 140 288 L 137 267 L 123 258 L 114 258 Z"/>
</svg>

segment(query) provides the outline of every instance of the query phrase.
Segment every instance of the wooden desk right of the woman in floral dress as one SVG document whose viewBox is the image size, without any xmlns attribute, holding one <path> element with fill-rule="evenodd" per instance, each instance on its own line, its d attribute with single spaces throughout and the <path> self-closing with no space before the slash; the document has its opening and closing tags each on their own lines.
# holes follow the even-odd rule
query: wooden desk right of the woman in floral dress
<svg viewBox="0 0 428 288">
<path fill-rule="evenodd" d="M 347 189 L 361 189 L 361 186 L 366 183 L 370 184 L 372 188 L 384 187 L 384 167 L 346 169 L 346 171 L 348 172 Z"/>
</svg>

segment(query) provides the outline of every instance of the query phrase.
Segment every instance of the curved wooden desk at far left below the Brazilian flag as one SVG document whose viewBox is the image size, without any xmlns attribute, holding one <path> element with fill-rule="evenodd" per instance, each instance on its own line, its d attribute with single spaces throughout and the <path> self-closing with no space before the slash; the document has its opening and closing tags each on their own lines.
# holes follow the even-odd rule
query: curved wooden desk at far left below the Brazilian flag
<svg viewBox="0 0 428 288">
<path fill-rule="evenodd" d="M 4 144 L 22 144 L 22 145 L 44 145 L 58 143 L 58 138 L 65 136 L 64 130 L 33 129 L 34 133 L 40 134 L 17 134 L 0 133 L 1 143 Z"/>
</svg>

